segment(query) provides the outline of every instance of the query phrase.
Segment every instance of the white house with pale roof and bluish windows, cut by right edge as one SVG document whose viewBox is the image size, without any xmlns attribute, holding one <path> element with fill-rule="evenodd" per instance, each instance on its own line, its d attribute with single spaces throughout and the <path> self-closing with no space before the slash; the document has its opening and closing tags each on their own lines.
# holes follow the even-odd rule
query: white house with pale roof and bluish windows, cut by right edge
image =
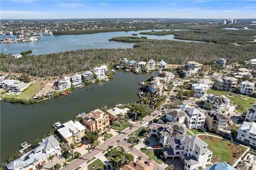
<svg viewBox="0 0 256 170">
<path fill-rule="evenodd" d="M 237 140 L 240 140 L 246 144 L 256 146 L 256 123 L 244 121 L 243 125 L 237 130 Z"/>
</svg>

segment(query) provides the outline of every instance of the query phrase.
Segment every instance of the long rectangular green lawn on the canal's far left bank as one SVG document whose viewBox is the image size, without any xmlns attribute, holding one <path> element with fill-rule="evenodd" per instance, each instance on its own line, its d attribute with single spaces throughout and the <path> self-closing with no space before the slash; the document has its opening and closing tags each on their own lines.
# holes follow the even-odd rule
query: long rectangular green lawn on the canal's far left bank
<svg viewBox="0 0 256 170">
<path fill-rule="evenodd" d="M 20 95 L 16 97 L 16 99 L 24 99 L 29 100 L 31 99 L 37 91 L 39 91 L 43 85 L 39 82 L 33 83 L 28 89 L 24 92 L 22 92 Z"/>
</svg>

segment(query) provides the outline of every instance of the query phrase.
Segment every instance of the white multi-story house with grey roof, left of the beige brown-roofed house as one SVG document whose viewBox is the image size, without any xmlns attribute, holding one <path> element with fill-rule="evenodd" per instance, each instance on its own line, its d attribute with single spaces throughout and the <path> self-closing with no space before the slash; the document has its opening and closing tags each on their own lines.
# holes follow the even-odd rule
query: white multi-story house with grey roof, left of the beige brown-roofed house
<svg viewBox="0 0 256 170">
<path fill-rule="evenodd" d="M 198 109 L 191 109 L 186 108 L 185 109 L 185 125 L 189 128 L 203 128 L 204 127 L 204 121 L 206 119 L 206 116 L 204 113 Z"/>
</svg>

